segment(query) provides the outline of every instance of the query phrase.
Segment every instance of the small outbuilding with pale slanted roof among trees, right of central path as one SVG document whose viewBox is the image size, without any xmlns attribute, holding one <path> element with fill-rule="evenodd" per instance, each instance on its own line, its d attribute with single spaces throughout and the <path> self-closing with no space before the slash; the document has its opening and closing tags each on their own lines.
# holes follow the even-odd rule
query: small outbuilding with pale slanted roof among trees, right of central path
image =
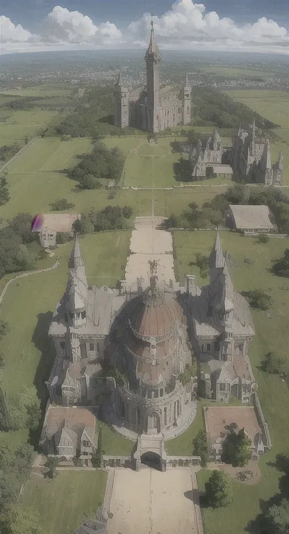
<svg viewBox="0 0 289 534">
<path fill-rule="evenodd" d="M 226 213 L 226 226 L 244 230 L 245 234 L 260 234 L 276 231 L 272 211 L 267 206 L 232 205 Z"/>
</svg>

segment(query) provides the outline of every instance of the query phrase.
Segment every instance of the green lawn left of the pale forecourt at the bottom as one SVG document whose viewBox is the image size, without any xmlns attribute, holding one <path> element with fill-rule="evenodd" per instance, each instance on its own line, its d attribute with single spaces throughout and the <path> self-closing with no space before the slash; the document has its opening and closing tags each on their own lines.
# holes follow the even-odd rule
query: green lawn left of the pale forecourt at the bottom
<svg viewBox="0 0 289 534">
<path fill-rule="evenodd" d="M 53 480 L 34 478 L 24 486 L 24 507 L 40 514 L 42 534 L 71 534 L 104 501 L 104 471 L 60 471 Z"/>
</svg>

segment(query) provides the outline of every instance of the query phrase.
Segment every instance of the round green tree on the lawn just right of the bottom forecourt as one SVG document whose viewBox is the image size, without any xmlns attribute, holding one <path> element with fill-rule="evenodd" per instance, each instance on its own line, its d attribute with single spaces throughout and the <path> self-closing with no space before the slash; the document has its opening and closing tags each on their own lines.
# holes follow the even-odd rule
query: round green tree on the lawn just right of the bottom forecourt
<svg viewBox="0 0 289 534">
<path fill-rule="evenodd" d="M 231 479 L 223 471 L 213 471 L 205 487 L 206 500 L 212 508 L 225 507 L 233 501 Z"/>
</svg>

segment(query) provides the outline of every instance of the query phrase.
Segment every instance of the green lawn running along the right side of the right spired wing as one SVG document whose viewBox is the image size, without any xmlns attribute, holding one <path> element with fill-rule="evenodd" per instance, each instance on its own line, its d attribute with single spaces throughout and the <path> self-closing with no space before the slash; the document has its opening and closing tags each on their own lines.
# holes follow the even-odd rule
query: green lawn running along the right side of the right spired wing
<svg viewBox="0 0 289 534">
<path fill-rule="evenodd" d="M 195 260 L 196 252 L 208 256 L 213 245 L 215 232 L 174 232 L 174 246 L 176 252 L 176 274 L 183 282 L 185 273 L 195 273 L 197 283 L 204 285 L 197 268 L 189 266 Z M 261 468 L 261 483 L 254 486 L 234 484 L 233 504 L 224 510 L 203 510 L 206 534 L 220 534 L 230 531 L 230 534 L 245 533 L 245 528 L 251 519 L 260 511 L 260 499 L 267 500 L 279 492 L 278 482 L 280 472 L 270 466 L 279 453 L 288 455 L 289 420 L 286 406 L 288 405 L 288 387 L 276 375 L 267 375 L 259 369 L 260 362 L 269 350 L 282 357 L 288 358 L 289 343 L 289 280 L 274 277 L 270 273 L 271 260 L 279 258 L 288 248 L 287 239 L 270 239 L 267 245 L 258 245 L 254 238 L 242 238 L 236 234 L 222 232 L 223 249 L 228 250 L 235 266 L 231 266 L 231 275 L 238 291 L 249 289 L 263 289 L 274 300 L 272 309 L 268 312 L 252 312 L 256 337 L 251 343 L 249 357 L 254 375 L 258 382 L 258 396 L 263 407 L 265 418 L 270 427 L 273 448 L 270 453 L 263 455 L 259 461 Z M 254 263 L 247 267 L 245 258 Z M 266 314 L 270 318 L 266 318 Z M 184 452 L 187 451 L 183 445 Z M 180 452 L 181 452 L 180 450 Z M 198 474 L 201 489 L 208 475 L 201 471 Z"/>
</svg>

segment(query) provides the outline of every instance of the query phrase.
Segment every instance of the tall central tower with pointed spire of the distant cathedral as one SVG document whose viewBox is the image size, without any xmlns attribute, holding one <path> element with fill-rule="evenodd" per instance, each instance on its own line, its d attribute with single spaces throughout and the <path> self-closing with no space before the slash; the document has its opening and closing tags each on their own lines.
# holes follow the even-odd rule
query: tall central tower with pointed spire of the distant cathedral
<svg viewBox="0 0 289 534">
<path fill-rule="evenodd" d="M 154 22 L 151 21 L 151 40 L 145 54 L 147 63 L 147 114 L 148 130 L 157 132 L 158 106 L 160 102 L 160 51 L 154 36 Z"/>
</svg>

